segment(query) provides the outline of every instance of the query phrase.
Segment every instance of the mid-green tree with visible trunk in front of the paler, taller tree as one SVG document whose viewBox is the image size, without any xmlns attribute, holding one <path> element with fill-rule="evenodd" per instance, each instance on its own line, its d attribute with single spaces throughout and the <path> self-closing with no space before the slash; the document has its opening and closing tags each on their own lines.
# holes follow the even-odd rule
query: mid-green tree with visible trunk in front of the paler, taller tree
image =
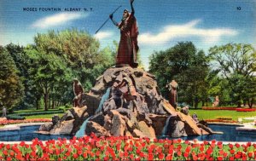
<svg viewBox="0 0 256 161">
<path fill-rule="evenodd" d="M 65 86 L 67 82 L 71 84 L 72 74 L 67 67 L 65 61 L 60 57 L 51 53 L 45 54 L 44 51 L 27 48 L 26 54 L 29 55 L 32 68 L 29 69 L 29 74 L 33 83 L 38 88 L 38 91 L 44 95 L 44 110 L 49 108 L 49 95 L 55 88 Z"/>
</svg>

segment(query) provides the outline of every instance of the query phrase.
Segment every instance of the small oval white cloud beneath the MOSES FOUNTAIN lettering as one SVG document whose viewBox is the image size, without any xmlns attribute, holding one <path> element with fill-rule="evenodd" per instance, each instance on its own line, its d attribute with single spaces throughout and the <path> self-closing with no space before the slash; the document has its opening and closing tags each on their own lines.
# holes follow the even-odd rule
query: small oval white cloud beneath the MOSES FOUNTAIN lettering
<svg viewBox="0 0 256 161">
<path fill-rule="evenodd" d="M 59 26 L 61 24 L 67 23 L 70 20 L 76 20 L 86 16 L 85 14 L 80 13 L 61 13 L 61 14 L 54 14 L 42 19 L 35 21 L 32 24 L 32 27 L 38 28 L 48 28 L 51 26 Z"/>
</svg>

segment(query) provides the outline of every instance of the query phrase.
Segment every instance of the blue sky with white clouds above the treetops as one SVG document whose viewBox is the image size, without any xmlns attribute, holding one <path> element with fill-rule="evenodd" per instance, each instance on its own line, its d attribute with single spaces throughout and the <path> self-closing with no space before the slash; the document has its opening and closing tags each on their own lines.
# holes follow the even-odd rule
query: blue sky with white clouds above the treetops
<svg viewBox="0 0 256 161">
<path fill-rule="evenodd" d="M 49 30 L 76 28 L 96 37 L 101 48 L 119 42 L 119 29 L 108 15 L 120 21 L 130 0 L 0 0 L 0 45 L 26 46 Z M 135 0 L 139 26 L 138 45 L 143 65 L 154 51 L 182 41 L 197 49 L 226 43 L 251 43 L 256 48 L 256 0 Z M 96 30 L 108 20 L 105 26 Z"/>
</svg>

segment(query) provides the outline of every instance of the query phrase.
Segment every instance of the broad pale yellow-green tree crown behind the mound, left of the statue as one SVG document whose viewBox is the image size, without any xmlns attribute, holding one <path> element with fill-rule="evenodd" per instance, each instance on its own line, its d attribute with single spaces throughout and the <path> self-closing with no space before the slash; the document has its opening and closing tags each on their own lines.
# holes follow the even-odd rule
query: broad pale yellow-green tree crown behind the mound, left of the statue
<svg viewBox="0 0 256 161">
<path fill-rule="evenodd" d="M 84 31 L 49 31 L 38 33 L 34 40 L 38 51 L 44 51 L 46 55 L 54 53 L 61 57 L 87 91 L 96 78 L 114 64 L 111 51 L 100 50 L 100 43 L 96 38 Z"/>
</svg>

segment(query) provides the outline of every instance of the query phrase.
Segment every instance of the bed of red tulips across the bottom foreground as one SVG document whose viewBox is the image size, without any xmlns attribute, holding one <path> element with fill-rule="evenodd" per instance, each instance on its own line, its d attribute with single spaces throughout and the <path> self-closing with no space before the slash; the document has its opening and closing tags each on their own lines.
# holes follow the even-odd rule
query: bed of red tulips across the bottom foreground
<svg viewBox="0 0 256 161">
<path fill-rule="evenodd" d="M 32 144 L 0 144 L 0 160 L 255 160 L 256 144 L 229 144 L 203 141 L 98 138 L 95 135 L 67 141 Z"/>
</svg>

